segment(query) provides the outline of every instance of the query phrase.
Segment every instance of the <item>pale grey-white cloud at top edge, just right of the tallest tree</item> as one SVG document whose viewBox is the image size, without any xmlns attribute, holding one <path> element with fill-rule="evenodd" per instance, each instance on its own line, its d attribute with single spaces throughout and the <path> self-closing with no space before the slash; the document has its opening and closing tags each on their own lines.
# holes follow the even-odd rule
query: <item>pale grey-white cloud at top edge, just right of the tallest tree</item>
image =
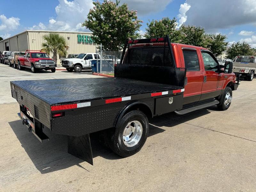
<svg viewBox="0 0 256 192">
<path fill-rule="evenodd" d="M 143 16 L 150 13 L 163 11 L 171 2 L 172 0 L 121 0 L 120 4 L 127 3 L 129 10 L 137 10 L 138 15 Z"/>
</svg>

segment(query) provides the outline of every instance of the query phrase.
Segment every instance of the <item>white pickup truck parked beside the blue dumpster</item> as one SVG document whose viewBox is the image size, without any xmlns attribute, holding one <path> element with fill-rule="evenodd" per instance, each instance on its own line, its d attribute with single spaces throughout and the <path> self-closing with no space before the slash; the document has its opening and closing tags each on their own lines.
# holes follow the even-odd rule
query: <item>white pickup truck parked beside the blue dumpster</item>
<svg viewBox="0 0 256 192">
<path fill-rule="evenodd" d="M 99 58 L 100 55 L 98 54 Z M 65 67 L 69 72 L 75 70 L 76 73 L 80 73 L 82 69 L 92 69 L 91 60 L 95 59 L 97 59 L 97 53 L 80 53 L 76 58 L 63 60 L 62 67 Z"/>
</svg>

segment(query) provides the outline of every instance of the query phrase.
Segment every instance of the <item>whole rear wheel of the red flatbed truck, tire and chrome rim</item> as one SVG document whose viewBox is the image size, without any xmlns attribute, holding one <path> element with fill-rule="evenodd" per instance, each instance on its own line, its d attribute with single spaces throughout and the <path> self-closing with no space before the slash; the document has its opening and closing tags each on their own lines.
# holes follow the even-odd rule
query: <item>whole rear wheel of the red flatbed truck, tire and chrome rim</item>
<svg viewBox="0 0 256 192">
<path fill-rule="evenodd" d="M 119 156 L 139 152 L 148 137 L 148 118 L 139 110 L 124 115 L 111 135 L 109 147 Z"/>
</svg>

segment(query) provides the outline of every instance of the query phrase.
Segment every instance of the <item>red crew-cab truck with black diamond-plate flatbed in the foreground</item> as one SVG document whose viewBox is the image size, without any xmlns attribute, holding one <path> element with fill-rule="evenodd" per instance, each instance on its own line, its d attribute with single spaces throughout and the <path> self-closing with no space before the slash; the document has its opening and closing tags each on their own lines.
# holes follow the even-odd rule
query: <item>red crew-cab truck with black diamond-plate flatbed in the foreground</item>
<svg viewBox="0 0 256 192">
<path fill-rule="evenodd" d="M 147 139 L 149 117 L 230 106 L 238 86 L 232 62 L 221 69 L 203 48 L 203 57 L 213 57 L 212 63 L 203 63 L 200 49 L 171 44 L 168 36 L 127 40 L 113 78 L 12 81 L 12 97 L 20 104 L 22 123 L 41 142 L 49 139 L 46 128 L 68 135 L 68 153 L 93 164 L 90 133 L 102 131 L 109 148 L 131 156 Z M 205 72 L 203 65 L 213 69 Z"/>
</svg>

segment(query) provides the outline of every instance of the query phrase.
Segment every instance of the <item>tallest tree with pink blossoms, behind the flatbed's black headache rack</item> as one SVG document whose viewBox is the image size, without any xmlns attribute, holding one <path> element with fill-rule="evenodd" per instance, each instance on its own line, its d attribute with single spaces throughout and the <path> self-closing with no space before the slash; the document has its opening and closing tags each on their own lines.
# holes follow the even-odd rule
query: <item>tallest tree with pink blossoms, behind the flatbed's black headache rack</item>
<svg viewBox="0 0 256 192">
<path fill-rule="evenodd" d="M 129 11 L 127 4 L 119 6 L 119 2 L 104 0 L 93 2 L 87 20 L 82 26 L 92 31 L 92 39 L 95 43 L 102 43 L 103 49 L 119 51 L 123 48 L 127 38 L 140 37 L 138 31 L 141 20 L 138 20 L 137 11 Z"/>
</svg>

